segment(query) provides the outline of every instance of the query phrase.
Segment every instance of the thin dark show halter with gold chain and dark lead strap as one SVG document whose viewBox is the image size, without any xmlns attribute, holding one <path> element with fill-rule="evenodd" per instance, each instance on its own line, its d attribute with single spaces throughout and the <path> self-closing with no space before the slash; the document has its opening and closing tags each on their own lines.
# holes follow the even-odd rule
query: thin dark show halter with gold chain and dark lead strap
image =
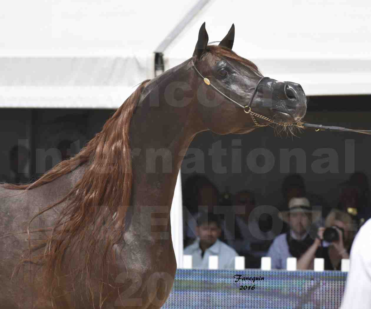
<svg viewBox="0 0 371 309">
<path fill-rule="evenodd" d="M 269 78 L 269 77 L 262 77 L 262 78 L 259 80 L 259 82 L 257 83 L 257 85 L 256 85 L 256 87 L 255 87 L 255 89 L 254 89 L 254 92 L 253 92 L 253 95 L 252 95 L 252 97 L 251 97 L 251 99 L 250 99 L 249 104 L 247 104 L 246 106 L 243 106 L 243 105 L 241 105 L 240 103 L 238 103 L 238 102 L 234 101 L 233 99 L 229 98 L 229 96 L 226 96 L 223 92 L 221 92 L 219 89 L 217 89 L 214 85 L 211 85 L 210 80 L 209 80 L 208 78 L 204 77 L 204 76 L 203 76 L 203 75 L 202 75 L 202 74 L 197 70 L 196 66 L 195 66 L 194 63 L 193 63 L 193 60 L 191 60 L 191 63 L 192 63 L 193 68 L 196 70 L 196 72 L 198 73 L 198 75 L 201 76 L 201 78 L 204 80 L 204 82 L 206 83 L 206 85 L 213 87 L 213 88 L 214 88 L 217 92 L 219 92 L 221 95 L 225 96 L 227 99 L 229 99 L 229 100 L 232 101 L 233 103 L 235 103 L 235 104 L 237 104 L 238 106 L 240 106 L 246 114 L 249 114 L 249 115 L 251 116 L 251 118 L 252 118 L 252 120 L 253 120 L 253 122 L 255 123 L 256 126 L 267 126 L 267 125 L 269 125 L 269 123 L 267 123 L 267 124 L 259 124 L 259 123 L 256 121 L 256 119 L 255 119 L 254 116 L 259 117 L 259 118 L 262 118 L 262 119 L 264 119 L 264 120 L 266 120 L 266 121 L 268 121 L 268 122 L 270 122 L 270 123 L 273 123 L 273 124 L 277 124 L 277 125 L 285 126 L 284 124 L 280 124 L 279 122 L 275 122 L 275 121 L 273 121 L 272 119 L 269 119 L 269 118 L 267 118 L 267 117 L 265 117 L 265 116 L 263 116 L 263 115 L 257 114 L 257 113 L 255 113 L 255 112 L 253 112 L 253 111 L 251 110 L 251 106 L 250 106 L 250 105 L 251 105 L 251 103 L 252 103 L 252 101 L 253 101 L 253 99 L 254 99 L 254 97 L 255 97 L 255 95 L 256 95 L 257 88 L 259 87 L 260 82 L 262 82 L 262 80 L 264 80 L 264 79 L 266 79 L 266 78 Z M 363 133 L 363 134 L 369 134 L 369 135 L 371 135 L 371 130 L 353 130 L 353 129 L 343 128 L 343 127 L 341 127 L 341 126 L 324 126 L 324 125 L 308 124 L 308 123 L 303 123 L 303 122 L 297 122 L 297 123 L 292 124 L 292 125 L 295 125 L 295 126 L 297 126 L 297 127 L 299 127 L 299 128 L 311 128 L 311 129 L 315 129 L 316 132 L 318 132 L 318 131 L 329 130 L 329 131 L 357 132 L 357 133 Z"/>
</svg>

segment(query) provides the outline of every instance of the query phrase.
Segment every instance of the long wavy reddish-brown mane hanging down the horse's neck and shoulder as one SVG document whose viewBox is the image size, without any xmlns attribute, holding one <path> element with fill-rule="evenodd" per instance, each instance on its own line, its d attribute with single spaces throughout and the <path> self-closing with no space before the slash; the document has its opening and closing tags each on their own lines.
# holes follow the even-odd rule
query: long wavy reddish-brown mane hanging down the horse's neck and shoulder
<svg viewBox="0 0 371 309">
<path fill-rule="evenodd" d="M 132 189 L 131 149 L 129 145 L 129 125 L 138 105 L 140 95 L 149 79 L 138 88 L 106 121 L 101 132 L 95 135 L 81 151 L 69 160 L 57 164 L 32 184 L 3 184 L 10 190 L 32 190 L 66 175 L 82 164 L 87 170 L 72 190 L 57 203 L 47 206 L 35 214 L 29 222 L 47 210 L 66 201 L 59 218 L 53 227 L 29 231 L 29 257 L 22 257 L 19 267 L 24 263 L 45 265 L 45 286 L 52 291 L 58 286 L 58 271 L 66 261 L 66 251 L 77 249 L 84 258 L 79 259 L 78 269 L 74 271 L 85 277 L 86 287 L 93 297 L 91 271 L 108 267 L 114 258 L 114 244 L 122 240 L 125 214 L 130 204 Z M 30 233 L 39 233 L 45 239 L 38 239 L 31 245 Z M 50 233 L 50 231 L 52 231 Z M 43 253 L 31 259 L 31 252 L 42 249 Z M 104 250 L 102 250 L 104 248 Z M 70 255 L 72 256 L 72 255 Z M 100 260 L 97 260 L 97 256 Z M 100 263 L 100 265 L 99 265 Z M 68 268 L 68 267 L 66 267 Z M 102 271 L 102 274 L 104 272 Z M 52 278 L 52 282 L 49 282 Z M 105 282 L 101 278 L 101 282 Z M 102 291 L 101 291 L 102 292 Z M 53 295 L 50 292 L 50 295 Z M 101 295 L 102 296 L 102 295 Z M 53 301 L 53 300 L 52 300 Z M 101 302 L 102 304 L 102 302 Z"/>
</svg>

